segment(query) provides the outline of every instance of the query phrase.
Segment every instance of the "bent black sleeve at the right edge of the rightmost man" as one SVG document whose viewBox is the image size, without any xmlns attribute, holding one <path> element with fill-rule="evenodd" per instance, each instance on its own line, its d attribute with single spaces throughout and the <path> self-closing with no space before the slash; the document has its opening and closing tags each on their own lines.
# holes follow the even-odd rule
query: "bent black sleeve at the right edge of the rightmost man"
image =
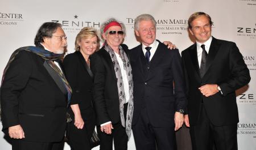
<svg viewBox="0 0 256 150">
<path fill-rule="evenodd" d="M 250 82 L 250 71 L 243 61 L 237 45 L 232 42 L 229 53 L 229 70 L 230 76 L 225 82 L 218 83 L 224 96 L 236 91 L 238 88 Z"/>
</svg>

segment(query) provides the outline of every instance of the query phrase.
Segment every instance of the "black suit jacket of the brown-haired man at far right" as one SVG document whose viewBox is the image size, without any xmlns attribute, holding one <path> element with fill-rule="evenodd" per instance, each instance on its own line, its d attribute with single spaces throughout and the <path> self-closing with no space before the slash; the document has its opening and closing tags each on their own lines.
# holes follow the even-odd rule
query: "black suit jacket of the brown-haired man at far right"
<svg viewBox="0 0 256 150">
<path fill-rule="evenodd" d="M 181 55 L 188 89 L 190 125 L 197 124 L 202 100 L 213 125 L 238 123 L 235 91 L 249 83 L 250 74 L 236 44 L 213 37 L 203 78 L 200 77 L 196 44 L 185 49 Z M 203 96 L 198 88 L 204 84 L 218 84 L 223 94 L 218 92 L 213 96 Z"/>
</svg>

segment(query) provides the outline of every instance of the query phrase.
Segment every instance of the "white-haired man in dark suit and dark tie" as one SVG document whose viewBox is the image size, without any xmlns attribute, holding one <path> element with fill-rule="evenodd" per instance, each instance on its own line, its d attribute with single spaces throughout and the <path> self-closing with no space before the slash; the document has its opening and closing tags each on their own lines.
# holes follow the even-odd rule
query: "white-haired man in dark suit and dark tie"
<svg viewBox="0 0 256 150">
<path fill-rule="evenodd" d="M 184 79 L 179 50 L 155 40 L 156 21 L 135 19 L 142 44 L 130 50 L 134 80 L 133 134 L 137 150 L 175 149 L 175 130 L 183 125 Z"/>
</svg>

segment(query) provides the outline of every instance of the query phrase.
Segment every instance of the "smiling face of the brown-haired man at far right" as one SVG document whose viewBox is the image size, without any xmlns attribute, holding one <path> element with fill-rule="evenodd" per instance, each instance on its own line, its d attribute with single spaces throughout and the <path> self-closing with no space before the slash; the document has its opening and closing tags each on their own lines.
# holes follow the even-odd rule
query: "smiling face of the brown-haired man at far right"
<svg viewBox="0 0 256 150">
<path fill-rule="evenodd" d="M 201 15 L 191 22 L 189 32 L 196 38 L 197 42 L 203 44 L 206 42 L 212 34 L 212 25 L 210 25 L 209 19 Z"/>
</svg>

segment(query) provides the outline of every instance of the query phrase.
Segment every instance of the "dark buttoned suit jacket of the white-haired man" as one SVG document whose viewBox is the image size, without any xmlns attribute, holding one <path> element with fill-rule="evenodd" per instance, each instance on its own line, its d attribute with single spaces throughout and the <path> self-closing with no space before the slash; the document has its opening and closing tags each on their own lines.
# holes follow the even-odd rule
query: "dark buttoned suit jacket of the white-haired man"
<svg viewBox="0 0 256 150">
<path fill-rule="evenodd" d="M 152 126 L 174 126 L 175 110 L 186 106 L 179 50 L 167 49 L 159 42 L 147 65 L 142 45 L 139 45 L 130 50 L 130 58 L 134 81 L 133 125 L 137 123 L 141 109 L 146 108 Z"/>
</svg>

